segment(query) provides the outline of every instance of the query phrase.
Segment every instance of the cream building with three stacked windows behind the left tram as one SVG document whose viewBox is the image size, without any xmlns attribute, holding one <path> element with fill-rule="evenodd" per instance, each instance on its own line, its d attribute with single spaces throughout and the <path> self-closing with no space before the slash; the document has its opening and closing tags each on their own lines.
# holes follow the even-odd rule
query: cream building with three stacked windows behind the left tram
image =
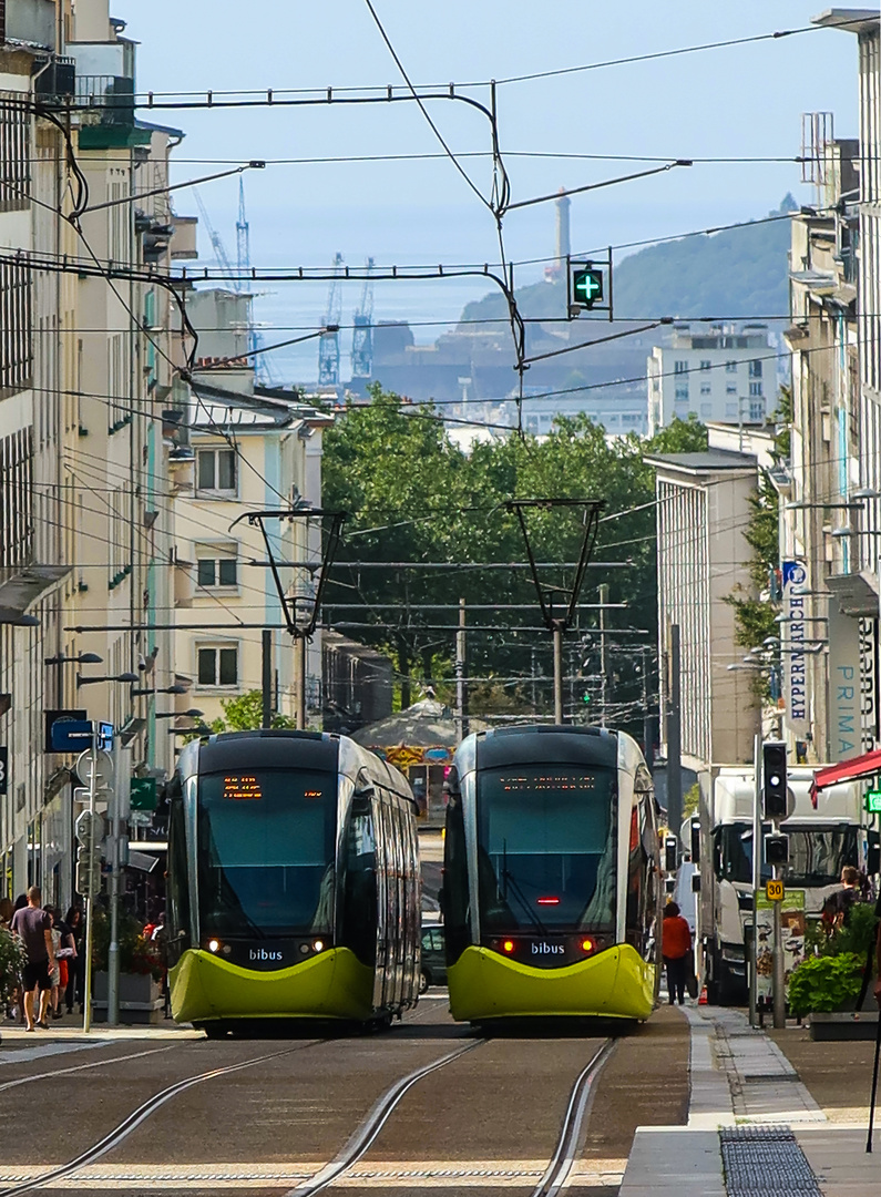
<svg viewBox="0 0 881 1197">
<path fill-rule="evenodd" d="M 300 662 L 267 545 L 248 512 L 321 506 L 323 430 L 333 418 L 291 393 L 255 382 L 248 351 L 247 294 L 206 288 L 188 294 L 199 333 L 186 427 L 171 452 L 175 506 L 175 661 L 189 687 L 176 709 L 208 722 L 223 700 L 262 686 L 262 630 L 272 631 L 274 709 L 296 717 Z M 311 614 L 321 564 L 317 519 L 267 519 L 266 531 L 288 608 Z M 321 633 L 305 652 L 308 717 L 321 717 Z M 181 721 L 186 725 L 187 721 Z"/>
</svg>

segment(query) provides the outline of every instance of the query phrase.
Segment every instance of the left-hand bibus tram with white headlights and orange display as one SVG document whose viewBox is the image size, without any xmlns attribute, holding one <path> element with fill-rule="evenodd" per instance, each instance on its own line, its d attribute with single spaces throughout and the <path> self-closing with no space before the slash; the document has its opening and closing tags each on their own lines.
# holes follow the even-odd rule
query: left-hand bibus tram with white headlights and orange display
<svg viewBox="0 0 881 1197">
<path fill-rule="evenodd" d="M 339 1019 L 415 1005 L 415 803 L 347 736 L 237 731 L 181 752 L 169 814 L 169 986 L 178 1022 Z"/>
</svg>

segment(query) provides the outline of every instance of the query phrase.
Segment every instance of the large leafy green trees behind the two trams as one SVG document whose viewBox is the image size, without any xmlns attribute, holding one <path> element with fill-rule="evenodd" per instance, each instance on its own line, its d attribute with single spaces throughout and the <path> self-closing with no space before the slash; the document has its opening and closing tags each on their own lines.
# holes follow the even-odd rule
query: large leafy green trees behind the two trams
<svg viewBox="0 0 881 1197">
<path fill-rule="evenodd" d="M 588 417 L 560 418 L 541 439 L 510 436 L 479 443 L 464 454 L 446 437 L 431 407 L 408 409 L 399 396 L 371 388 L 372 402 L 350 407 L 338 415 L 324 435 L 323 497 L 328 508 L 351 512 L 346 541 L 339 558 L 371 561 L 450 563 L 449 570 L 351 570 L 334 571 L 328 584 L 328 614 L 333 603 L 360 601 L 358 639 L 385 652 L 397 675 L 396 704 L 408 706 L 417 686 L 440 679 L 438 697 L 449 701 L 444 688 L 454 649 L 451 612 L 424 612 L 429 603 L 522 603 L 534 607 L 510 613 L 510 628 L 468 634 L 468 674 L 488 678 L 469 686 L 470 711 L 508 713 L 529 709 L 533 672 L 552 674 L 551 637 L 518 630 L 535 626 L 537 598 L 525 570 L 463 570 L 476 561 L 523 561 L 525 548 L 516 515 L 505 510 L 512 497 L 602 498 L 606 502 L 595 557 L 626 561 L 626 569 L 609 571 L 601 579 L 587 576 L 584 602 L 596 602 L 596 584 L 608 581 L 610 601 L 626 600 L 630 609 L 609 614 L 608 626 L 636 622 L 654 637 L 657 620 L 657 570 L 655 537 L 655 472 L 645 464 L 650 452 L 686 452 L 706 448 L 706 430 L 694 420 L 674 423 L 651 442 L 636 436 L 609 442 Z M 575 561 L 583 525 L 576 509 L 531 509 L 527 516 L 530 543 L 543 561 Z M 548 585 L 571 585 L 572 571 L 543 571 Z M 638 613 L 638 615 L 636 614 Z M 488 612 L 481 612 L 481 616 Z M 470 620 L 469 620 L 470 622 Z M 509 622 L 498 619 L 474 622 Z M 437 625 L 450 631 L 438 631 Z M 433 626 L 432 626 L 433 625 Z M 583 633 L 596 626 L 596 613 L 579 615 Z M 564 651 L 584 651 L 567 639 Z M 571 650 L 570 650 L 571 646 Z M 610 673 L 610 701 L 627 712 L 642 694 L 638 654 L 615 652 Z M 566 672 L 578 673 L 575 656 Z M 596 664 L 584 673 L 597 672 Z M 496 678 L 522 676 L 523 683 L 497 682 Z M 548 681 L 535 683 L 540 711 L 553 709 Z M 482 705 L 485 704 L 485 705 Z M 642 735 L 642 711 L 634 713 L 634 731 Z M 616 719 L 626 727 L 626 719 Z"/>
</svg>

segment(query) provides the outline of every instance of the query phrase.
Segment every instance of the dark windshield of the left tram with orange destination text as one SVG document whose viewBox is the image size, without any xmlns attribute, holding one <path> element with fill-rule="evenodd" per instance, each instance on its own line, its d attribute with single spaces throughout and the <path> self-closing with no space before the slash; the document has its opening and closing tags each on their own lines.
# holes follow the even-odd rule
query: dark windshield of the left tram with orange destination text
<svg viewBox="0 0 881 1197">
<path fill-rule="evenodd" d="M 336 777 L 248 768 L 199 778 L 203 934 L 278 938 L 332 929 Z"/>
</svg>

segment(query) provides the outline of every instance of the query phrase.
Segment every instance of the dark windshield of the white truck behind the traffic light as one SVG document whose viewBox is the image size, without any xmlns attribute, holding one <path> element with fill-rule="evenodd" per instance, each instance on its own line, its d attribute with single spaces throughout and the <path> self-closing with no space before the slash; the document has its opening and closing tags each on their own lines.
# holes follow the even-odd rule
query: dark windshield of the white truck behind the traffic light
<svg viewBox="0 0 881 1197">
<path fill-rule="evenodd" d="M 768 834 L 771 824 L 764 825 Z M 857 862 L 857 828 L 783 827 L 789 836 L 789 864 L 780 876 L 788 886 L 831 886 L 839 881 L 845 864 Z M 721 881 L 753 883 L 753 825 L 725 824 L 716 830 L 716 875 Z M 761 880 L 771 876 L 762 861 Z"/>
</svg>

